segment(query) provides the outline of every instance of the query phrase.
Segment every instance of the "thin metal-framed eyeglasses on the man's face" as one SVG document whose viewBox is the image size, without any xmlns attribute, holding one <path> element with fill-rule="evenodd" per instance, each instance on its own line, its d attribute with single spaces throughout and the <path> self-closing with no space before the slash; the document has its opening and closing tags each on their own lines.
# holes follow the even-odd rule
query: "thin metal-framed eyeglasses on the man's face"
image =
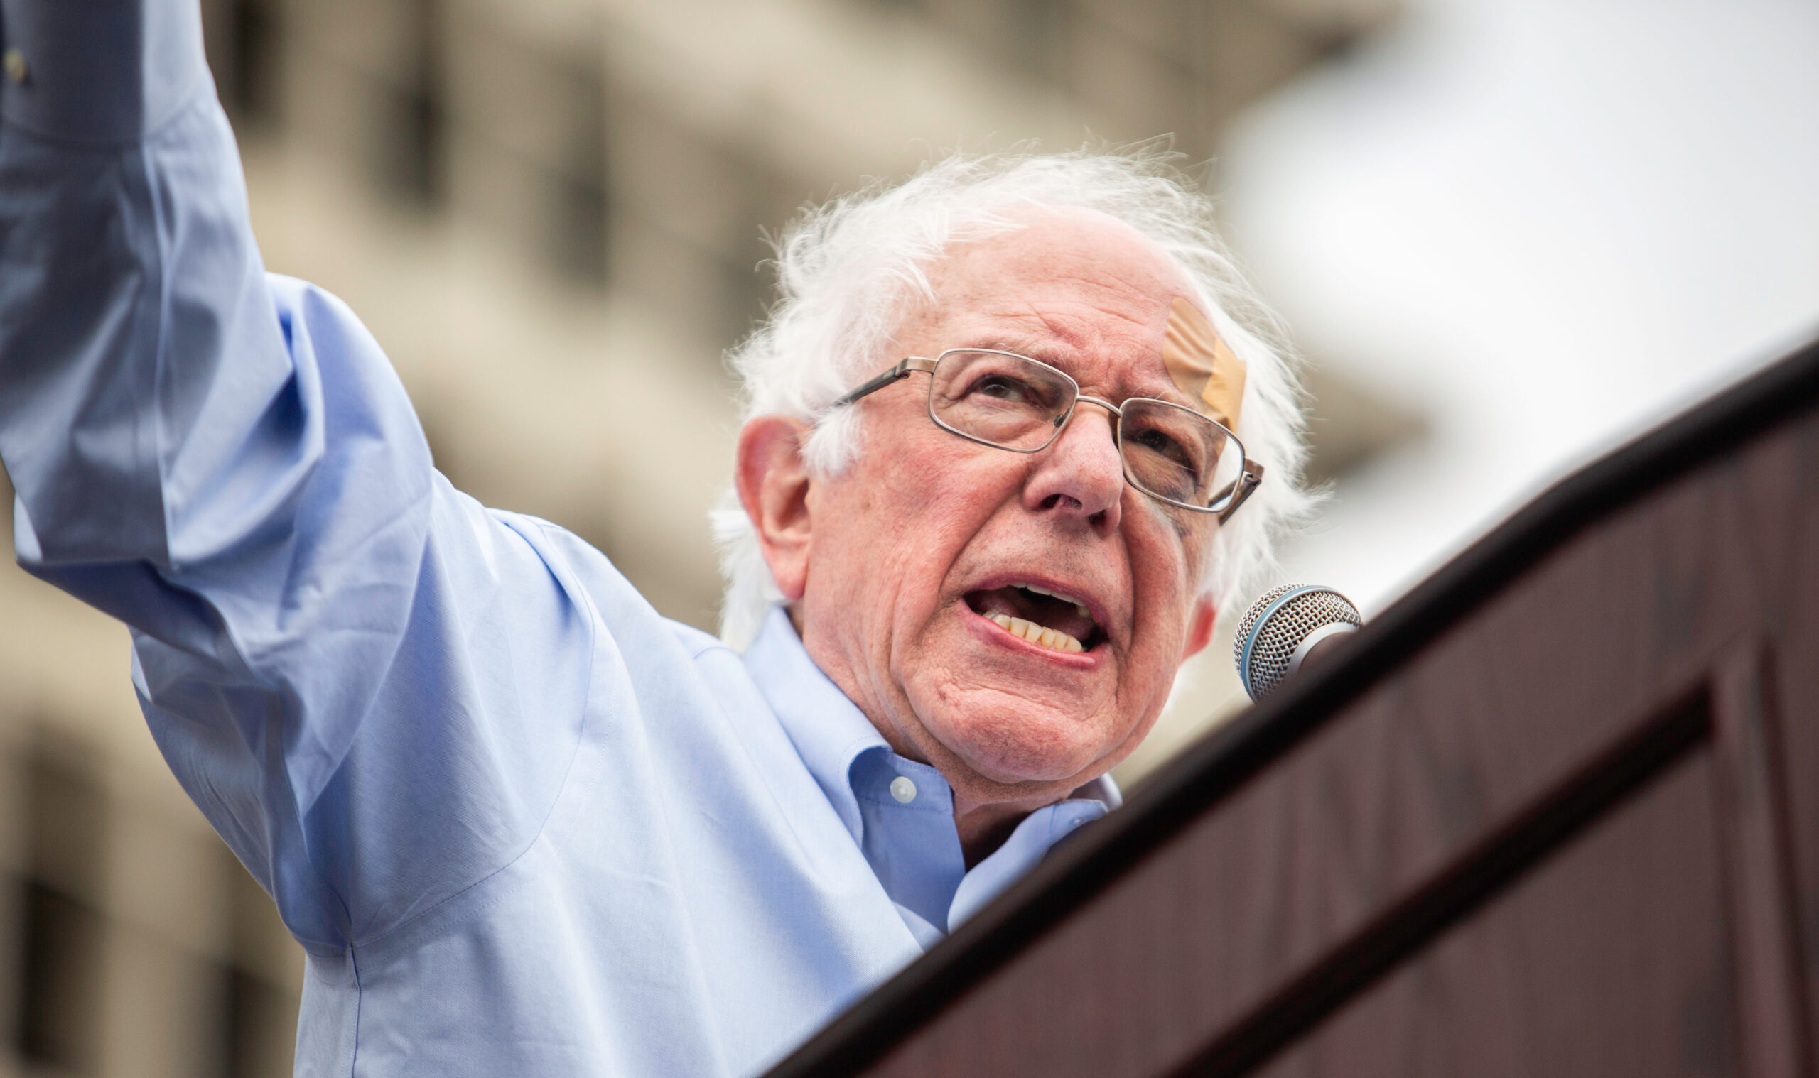
<svg viewBox="0 0 1819 1078">
<path fill-rule="evenodd" d="M 997 349 L 948 349 L 933 360 L 910 356 L 831 407 L 853 404 L 913 371 L 930 374 L 928 418 L 937 427 L 1011 453 L 1048 449 L 1077 404 L 1097 404 L 1117 422 L 1119 460 L 1133 487 L 1179 509 L 1217 513 L 1221 524 L 1262 482 L 1262 465 L 1246 460 L 1237 434 L 1211 418 L 1150 396 L 1124 404 L 1086 396 L 1066 371 Z"/>
</svg>

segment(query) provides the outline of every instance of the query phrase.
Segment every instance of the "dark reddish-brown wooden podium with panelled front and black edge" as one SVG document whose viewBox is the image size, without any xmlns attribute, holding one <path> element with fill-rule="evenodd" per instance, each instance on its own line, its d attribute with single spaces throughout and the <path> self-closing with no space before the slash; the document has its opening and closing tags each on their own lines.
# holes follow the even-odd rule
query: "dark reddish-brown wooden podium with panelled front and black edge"
<svg viewBox="0 0 1819 1078">
<path fill-rule="evenodd" d="M 775 1078 L 1819 1078 L 1819 345 L 1559 484 Z"/>
</svg>

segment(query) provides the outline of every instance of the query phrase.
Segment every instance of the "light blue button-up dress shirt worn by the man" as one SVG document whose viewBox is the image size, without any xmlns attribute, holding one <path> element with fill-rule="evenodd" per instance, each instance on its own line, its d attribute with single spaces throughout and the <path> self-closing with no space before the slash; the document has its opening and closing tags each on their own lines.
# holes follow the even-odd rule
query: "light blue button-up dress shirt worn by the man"
<svg viewBox="0 0 1819 1078">
<path fill-rule="evenodd" d="M 298 1074 L 751 1074 L 1117 802 L 966 869 L 782 613 L 744 654 L 431 465 L 266 274 L 195 0 L 0 0 L 0 456 L 307 953 Z"/>
</svg>

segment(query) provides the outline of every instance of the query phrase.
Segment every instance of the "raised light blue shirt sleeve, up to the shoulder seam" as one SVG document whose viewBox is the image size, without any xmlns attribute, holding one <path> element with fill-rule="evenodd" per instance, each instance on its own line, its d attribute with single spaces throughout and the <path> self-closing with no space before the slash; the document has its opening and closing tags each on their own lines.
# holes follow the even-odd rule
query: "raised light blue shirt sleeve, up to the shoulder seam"
<svg viewBox="0 0 1819 1078">
<path fill-rule="evenodd" d="M 0 0 L 0 458 L 20 564 L 127 622 L 178 780 L 338 951 L 535 840 L 593 625 L 437 474 L 333 296 L 269 276 L 195 0 Z"/>
</svg>

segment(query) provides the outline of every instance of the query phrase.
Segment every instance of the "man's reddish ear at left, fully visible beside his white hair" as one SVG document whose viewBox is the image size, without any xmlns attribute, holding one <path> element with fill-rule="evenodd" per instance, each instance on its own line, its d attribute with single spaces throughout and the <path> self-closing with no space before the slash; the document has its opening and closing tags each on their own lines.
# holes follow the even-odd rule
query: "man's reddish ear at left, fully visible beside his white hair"
<svg viewBox="0 0 1819 1078">
<path fill-rule="evenodd" d="M 757 416 L 739 431 L 735 482 L 739 502 L 759 533 L 759 549 L 784 600 L 799 602 L 808 587 L 813 522 L 811 478 L 802 464 L 809 427 L 789 416 Z"/>
</svg>

